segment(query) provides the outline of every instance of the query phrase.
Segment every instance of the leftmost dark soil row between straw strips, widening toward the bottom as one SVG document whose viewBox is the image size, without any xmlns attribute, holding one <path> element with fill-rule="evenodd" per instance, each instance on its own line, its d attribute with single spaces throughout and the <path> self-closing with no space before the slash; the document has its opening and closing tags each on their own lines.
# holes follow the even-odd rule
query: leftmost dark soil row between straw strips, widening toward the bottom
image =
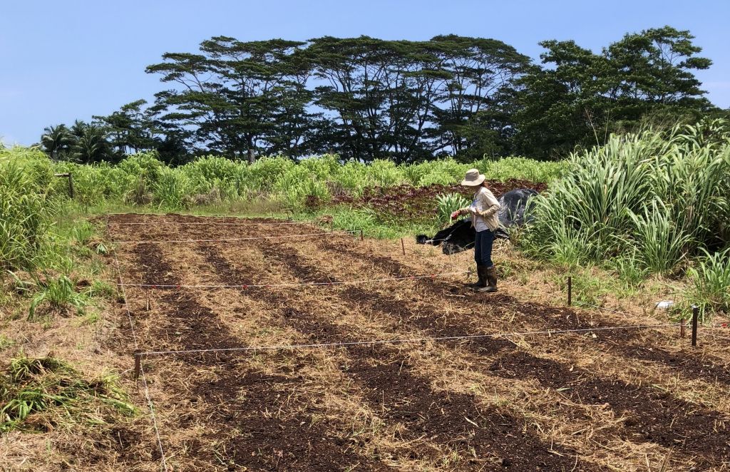
<svg viewBox="0 0 730 472">
<path fill-rule="evenodd" d="M 138 263 L 146 269 L 147 283 L 152 278 L 159 281 L 160 277 L 165 283 L 180 283 L 161 256 L 160 248 L 147 244 L 140 246 Z M 159 302 L 161 308 L 155 314 L 164 313 L 164 318 L 158 330 L 149 333 L 150 340 L 172 340 L 177 349 L 245 346 L 242 340 L 231 335 L 215 313 L 197 302 L 193 292 L 163 292 Z M 178 397 L 188 395 L 193 405 L 200 401 L 205 405 L 208 416 L 204 423 L 210 429 L 203 437 L 205 445 L 188 446 L 194 460 L 206 463 L 207 468 L 342 470 L 362 462 L 361 456 L 342 447 L 343 435 L 333 434 L 333 430 L 321 425 L 312 425 L 312 415 L 319 413 L 318 408 L 296 398 L 288 399 L 285 408 L 280 408 L 282 393 L 292 382 L 301 379 L 267 378 L 250 370 L 245 362 L 231 362 L 225 354 L 181 358 L 192 368 L 212 366 L 215 370 L 214 381 L 189 384 L 188 389 L 177 392 Z M 164 358 L 155 359 L 158 365 L 164 365 L 164 362 Z M 185 375 L 179 373 L 179 376 Z M 184 429 L 201 422 L 201 418 L 185 413 L 184 408 L 181 410 L 178 427 Z M 266 417 L 265 411 L 284 411 L 285 414 Z M 211 444 L 223 446 L 212 452 Z"/>
</svg>

